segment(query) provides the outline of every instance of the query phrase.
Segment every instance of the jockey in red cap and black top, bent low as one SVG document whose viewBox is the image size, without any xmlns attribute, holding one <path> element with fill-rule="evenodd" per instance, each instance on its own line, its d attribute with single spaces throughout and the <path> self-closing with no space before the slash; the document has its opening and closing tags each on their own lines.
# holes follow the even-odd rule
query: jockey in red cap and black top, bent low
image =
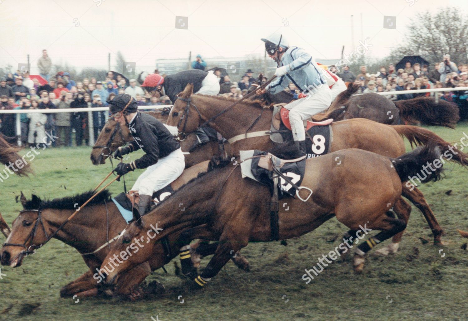
<svg viewBox="0 0 468 321">
<path fill-rule="evenodd" d="M 219 81 L 213 71 L 200 69 L 181 71 L 164 78 L 160 74 L 152 73 L 146 76 L 141 86 L 145 87 L 148 92 L 152 92 L 157 86 L 162 86 L 174 104 L 177 94 L 182 92 L 188 84 L 193 84 L 193 93 L 205 95 L 219 93 Z"/>
</svg>

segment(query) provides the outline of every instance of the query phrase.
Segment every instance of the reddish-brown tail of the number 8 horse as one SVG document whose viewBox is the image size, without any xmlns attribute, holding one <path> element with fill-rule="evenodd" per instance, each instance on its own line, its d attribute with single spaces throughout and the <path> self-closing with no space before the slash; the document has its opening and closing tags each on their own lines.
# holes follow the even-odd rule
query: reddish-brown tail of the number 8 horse
<svg viewBox="0 0 468 321">
<path fill-rule="evenodd" d="M 456 146 L 453 146 L 451 143 L 446 142 L 442 137 L 434 134 L 428 129 L 409 126 L 409 125 L 388 125 L 391 126 L 395 131 L 400 134 L 402 137 L 406 137 L 411 144 L 416 146 L 424 146 L 428 144 L 435 144 L 439 147 L 444 157 L 447 157 L 447 160 L 453 160 L 458 164 L 463 166 L 468 166 L 468 155 L 462 153 Z"/>
</svg>

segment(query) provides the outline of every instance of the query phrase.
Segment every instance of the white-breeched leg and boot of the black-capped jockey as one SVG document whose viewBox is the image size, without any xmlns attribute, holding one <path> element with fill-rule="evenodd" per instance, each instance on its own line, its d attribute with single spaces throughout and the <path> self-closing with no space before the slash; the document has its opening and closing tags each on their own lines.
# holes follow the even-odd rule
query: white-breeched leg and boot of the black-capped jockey
<svg viewBox="0 0 468 321">
<path fill-rule="evenodd" d="M 172 183 L 182 174 L 185 168 L 185 157 L 182 150 L 174 150 L 168 156 L 149 166 L 140 175 L 132 190 L 138 191 L 140 196 L 139 214 L 144 215 L 151 207 L 151 196 L 154 192 Z"/>
</svg>

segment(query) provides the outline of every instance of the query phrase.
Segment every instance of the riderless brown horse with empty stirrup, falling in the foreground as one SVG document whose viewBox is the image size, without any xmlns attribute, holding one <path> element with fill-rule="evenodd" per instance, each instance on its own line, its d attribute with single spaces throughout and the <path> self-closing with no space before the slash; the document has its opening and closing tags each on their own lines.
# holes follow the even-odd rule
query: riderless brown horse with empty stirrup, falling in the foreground
<svg viewBox="0 0 468 321">
<path fill-rule="evenodd" d="M 366 234 L 370 230 L 380 230 L 355 249 L 353 266 L 359 272 L 363 270 L 366 253 L 374 245 L 406 228 L 408 214 L 402 212 L 409 209 L 400 204 L 402 182 L 421 171 L 426 162 L 432 162 L 442 154 L 433 145 L 397 158 L 357 149 L 341 150 L 340 154 L 344 157 L 342 166 L 334 163 L 331 154 L 307 159 L 301 185 L 313 191 L 312 197 L 305 202 L 292 197 L 283 199 L 290 207 L 287 210 L 279 208 L 279 238 L 304 235 L 333 216 L 350 228 L 348 234 L 358 235 L 359 230 Z M 432 171 L 425 181 L 439 179 L 441 170 L 439 167 Z M 179 209 L 181 203 L 184 211 Z M 388 213 L 389 206 L 398 208 L 398 219 Z M 105 283 L 115 284 L 120 274 L 152 256 L 154 243 L 139 244 L 138 251 L 129 250 L 133 250 L 134 243 L 145 240 L 150 232 L 158 233 L 153 240 L 156 241 L 180 228 L 191 227 L 191 239 L 204 238 L 206 233 L 219 235 L 220 242 L 214 256 L 202 274 L 195 278 L 197 284 L 203 286 L 228 262 L 233 252 L 249 242 L 271 241 L 270 211 L 269 187 L 242 178 L 240 166 L 227 162 L 199 175 L 149 214 L 135 216 L 135 221 L 125 228 L 102 262 L 101 269 L 107 274 Z M 204 223 L 208 229 L 197 228 Z M 337 255 L 341 256 L 337 249 Z M 344 249 L 340 247 L 340 250 Z M 114 264 L 114 269 L 111 259 L 115 256 L 120 256 L 123 261 Z M 112 271 L 109 266 L 112 266 Z"/>
</svg>

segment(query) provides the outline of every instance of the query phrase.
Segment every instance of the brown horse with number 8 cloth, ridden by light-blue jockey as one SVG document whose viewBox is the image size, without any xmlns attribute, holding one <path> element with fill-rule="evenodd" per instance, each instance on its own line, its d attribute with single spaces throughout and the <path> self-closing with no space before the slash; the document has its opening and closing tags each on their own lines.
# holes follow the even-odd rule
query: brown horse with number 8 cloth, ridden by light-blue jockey
<svg viewBox="0 0 468 321">
<path fill-rule="evenodd" d="M 190 133 L 196 130 L 201 123 L 211 119 L 209 125 L 231 142 L 234 156 L 238 155 L 239 150 L 270 150 L 274 146 L 268 134 L 262 134 L 270 130 L 273 116 L 270 108 L 264 107 L 259 101 L 244 100 L 226 113 L 215 116 L 236 100 L 199 94 L 192 95 L 192 90 L 192 86 L 188 85 L 183 93 L 179 94 L 179 97 L 183 100 L 176 100 L 169 115 L 168 125 L 179 125 L 179 132 Z M 185 120 L 184 122 L 180 121 L 181 117 L 187 114 L 187 110 L 190 111 L 186 116 L 187 122 Z M 253 120 L 258 117 L 259 111 L 262 110 L 262 116 L 254 126 L 251 126 Z M 213 119 L 213 117 L 215 118 Z M 262 136 L 244 138 L 248 128 L 250 128 L 249 132 L 257 132 Z M 401 136 L 405 136 L 412 145 L 424 145 L 432 142 L 437 144 L 443 152 L 450 152 L 451 149 L 457 150 L 456 147 L 453 147 L 431 131 L 416 126 L 390 126 L 357 118 L 333 122 L 331 128 L 333 140 L 330 145 L 330 152 L 332 153 L 346 148 L 358 148 L 387 157 L 397 157 L 405 151 Z M 232 141 L 231 139 L 235 136 L 240 139 Z M 468 156 L 458 151 L 454 155 L 453 161 L 468 165 Z M 411 189 L 405 184 L 402 184 L 402 189 L 402 195 L 423 212 L 434 234 L 434 243 L 439 244 L 443 230 L 424 199 L 423 193 L 417 188 Z M 396 235 L 393 240 L 394 243 L 390 246 L 390 251 L 397 251 L 401 237 L 402 234 Z"/>
</svg>

